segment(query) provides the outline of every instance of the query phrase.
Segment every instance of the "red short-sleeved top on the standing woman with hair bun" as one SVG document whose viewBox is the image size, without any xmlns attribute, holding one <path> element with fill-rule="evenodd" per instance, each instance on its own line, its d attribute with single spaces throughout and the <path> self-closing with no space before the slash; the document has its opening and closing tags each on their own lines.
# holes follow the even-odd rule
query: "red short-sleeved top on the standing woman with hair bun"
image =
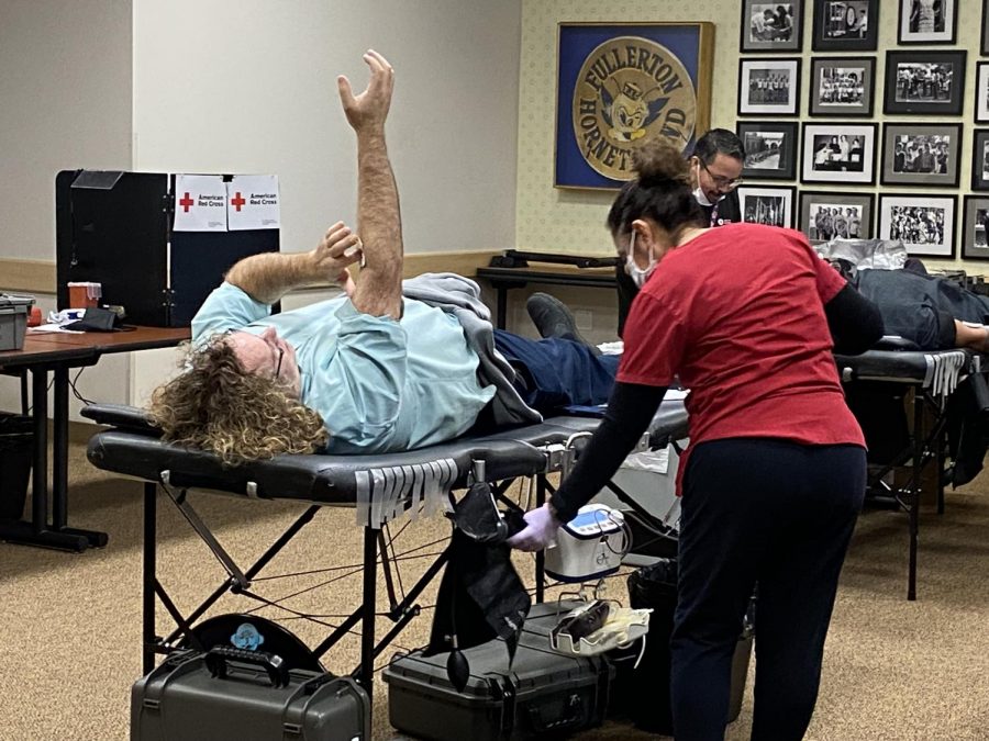
<svg viewBox="0 0 989 741">
<path fill-rule="evenodd" d="M 824 316 L 845 284 L 799 232 L 709 229 L 667 252 L 636 296 L 618 380 L 662 386 L 678 375 L 690 389 L 690 447 L 736 437 L 865 447 Z"/>
</svg>

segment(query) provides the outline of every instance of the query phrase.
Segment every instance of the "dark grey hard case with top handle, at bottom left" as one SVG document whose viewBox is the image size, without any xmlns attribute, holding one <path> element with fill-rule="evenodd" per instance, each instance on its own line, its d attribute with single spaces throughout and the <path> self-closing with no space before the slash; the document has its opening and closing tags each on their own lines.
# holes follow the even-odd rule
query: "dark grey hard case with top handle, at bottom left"
<svg viewBox="0 0 989 741">
<path fill-rule="evenodd" d="M 180 651 L 131 689 L 132 741 L 370 741 L 354 680 L 286 669 L 271 653 Z"/>
</svg>

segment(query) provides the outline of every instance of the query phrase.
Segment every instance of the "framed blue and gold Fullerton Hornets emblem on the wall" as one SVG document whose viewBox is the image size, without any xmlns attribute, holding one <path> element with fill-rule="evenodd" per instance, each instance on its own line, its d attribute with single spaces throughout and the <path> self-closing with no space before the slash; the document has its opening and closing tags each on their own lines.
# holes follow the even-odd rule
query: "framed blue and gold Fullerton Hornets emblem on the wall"
<svg viewBox="0 0 989 741">
<path fill-rule="evenodd" d="M 711 125 L 714 24 L 559 23 L 553 184 L 616 190 L 652 141 L 691 151 Z"/>
</svg>

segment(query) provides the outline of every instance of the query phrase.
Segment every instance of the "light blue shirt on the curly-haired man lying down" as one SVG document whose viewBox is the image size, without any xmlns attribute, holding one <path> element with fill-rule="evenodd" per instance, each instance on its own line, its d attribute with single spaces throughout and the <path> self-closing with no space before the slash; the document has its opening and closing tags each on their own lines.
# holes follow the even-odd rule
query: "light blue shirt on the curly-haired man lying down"
<svg viewBox="0 0 989 741">
<path fill-rule="evenodd" d="M 224 282 L 192 319 L 192 340 L 273 326 L 296 348 L 301 401 L 320 413 L 334 453 L 381 453 L 465 433 L 494 395 L 456 318 L 404 299 L 400 322 L 362 314 L 346 296 L 271 314 Z"/>
</svg>

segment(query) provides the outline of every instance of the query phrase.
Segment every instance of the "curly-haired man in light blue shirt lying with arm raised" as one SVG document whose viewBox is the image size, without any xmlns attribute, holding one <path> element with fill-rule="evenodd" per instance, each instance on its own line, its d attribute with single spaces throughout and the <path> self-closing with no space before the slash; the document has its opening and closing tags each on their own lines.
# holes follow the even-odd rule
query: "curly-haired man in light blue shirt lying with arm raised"
<svg viewBox="0 0 989 741">
<path fill-rule="evenodd" d="M 486 408 L 496 424 L 523 424 L 542 420 L 537 409 L 607 401 L 615 358 L 493 330 L 477 284 L 458 276 L 403 284 L 385 142 L 395 76 L 377 52 L 364 60 L 364 92 L 337 78 L 357 134 L 360 238 L 336 223 L 309 252 L 254 255 L 230 269 L 192 321 L 186 371 L 153 396 L 166 440 L 227 464 L 321 449 L 384 453 L 457 437 Z M 347 267 L 362 250 L 355 281 Z M 326 281 L 346 295 L 270 314 L 289 291 Z"/>
</svg>

